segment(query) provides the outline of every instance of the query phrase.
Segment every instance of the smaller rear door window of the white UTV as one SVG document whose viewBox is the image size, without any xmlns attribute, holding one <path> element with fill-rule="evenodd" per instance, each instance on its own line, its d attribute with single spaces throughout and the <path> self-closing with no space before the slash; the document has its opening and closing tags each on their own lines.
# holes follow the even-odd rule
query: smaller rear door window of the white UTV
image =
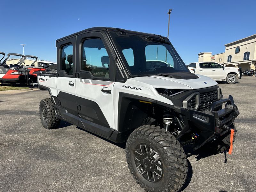
<svg viewBox="0 0 256 192">
<path fill-rule="evenodd" d="M 73 45 L 64 45 L 61 48 L 61 70 L 65 70 L 68 75 L 73 75 Z"/>
</svg>

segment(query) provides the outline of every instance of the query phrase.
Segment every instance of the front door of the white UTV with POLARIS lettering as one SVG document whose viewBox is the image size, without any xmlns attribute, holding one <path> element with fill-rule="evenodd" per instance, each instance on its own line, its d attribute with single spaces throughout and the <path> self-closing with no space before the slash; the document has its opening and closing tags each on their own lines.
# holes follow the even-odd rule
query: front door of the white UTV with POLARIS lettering
<svg viewBox="0 0 256 192">
<path fill-rule="evenodd" d="M 113 52 L 109 49 L 105 34 L 101 32 L 89 32 L 77 36 L 76 50 L 79 50 L 76 93 L 78 115 L 82 126 L 110 137 L 115 128 Z"/>
</svg>

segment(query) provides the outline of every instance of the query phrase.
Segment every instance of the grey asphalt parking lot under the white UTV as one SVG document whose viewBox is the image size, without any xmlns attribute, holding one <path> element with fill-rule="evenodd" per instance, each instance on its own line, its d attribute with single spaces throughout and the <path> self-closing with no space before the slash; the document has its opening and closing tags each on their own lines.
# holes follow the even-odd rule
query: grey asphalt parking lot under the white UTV
<svg viewBox="0 0 256 192">
<path fill-rule="evenodd" d="M 188 152 L 184 192 L 256 191 L 256 77 L 219 84 L 233 95 L 240 116 L 233 154 Z M 0 191 L 143 192 L 130 174 L 124 145 L 115 145 L 75 125 L 45 130 L 39 101 L 47 91 L 0 92 Z"/>
</svg>

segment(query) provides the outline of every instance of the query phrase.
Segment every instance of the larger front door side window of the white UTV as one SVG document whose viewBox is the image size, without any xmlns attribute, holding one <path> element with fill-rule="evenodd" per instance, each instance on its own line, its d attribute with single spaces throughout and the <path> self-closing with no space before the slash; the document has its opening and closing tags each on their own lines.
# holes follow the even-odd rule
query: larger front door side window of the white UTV
<svg viewBox="0 0 256 192">
<path fill-rule="evenodd" d="M 87 39 L 82 45 L 82 70 L 95 77 L 109 78 L 109 57 L 101 39 Z"/>
</svg>

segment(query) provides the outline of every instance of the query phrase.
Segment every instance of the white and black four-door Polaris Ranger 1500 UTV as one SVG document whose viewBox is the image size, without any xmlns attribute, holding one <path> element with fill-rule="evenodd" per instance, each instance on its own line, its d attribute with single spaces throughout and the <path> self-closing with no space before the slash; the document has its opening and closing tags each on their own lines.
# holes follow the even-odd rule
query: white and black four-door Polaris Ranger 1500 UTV
<svg viewBox="0 0 256 192">
<path fill-rule="evenodd" d="M 43 126 L 61 120 L 126 142 L 133 178 L 146 191 L 178 191 L 188 170 L 183 146 L 233 144 L 239 111 L 217 83 L 190 73 L 169 39 L 89 28 L 56 41 L 57 73 L 38 74 Z M 222 109 L 222 104 L 226 106 Z"/>
</svg>

